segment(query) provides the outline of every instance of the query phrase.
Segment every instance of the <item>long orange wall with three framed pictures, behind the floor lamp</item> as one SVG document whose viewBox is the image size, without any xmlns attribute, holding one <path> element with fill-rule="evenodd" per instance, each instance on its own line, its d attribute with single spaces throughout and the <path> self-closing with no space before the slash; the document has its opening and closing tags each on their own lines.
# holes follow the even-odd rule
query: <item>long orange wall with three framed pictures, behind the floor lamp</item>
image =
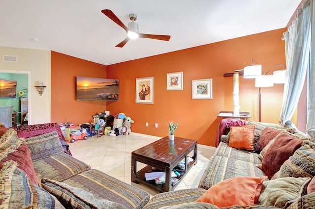
<svg viewBox="0 0 315 209">
<path fill-rule="evenodd" d="M 276 65 L 285 65 L 285 43 L 281 41 L 285 30 L 282 28 L 109 65 L 107 78 L 119 78 L 120 99 L 108 101 L 107 110 L 111 114 L 124 112 L 130 116 L 134 120 L 131 125 L 133 132 L 166 136 L 165 122 L 172 120 L 178 122 L 175 136 L 214 146 L 216 130 L 222 119 L 217 117 L 219 112 L 233 111 L 233 78 L 224 78 L 223 74 L 243 69 L 252 64 L 252 59 L 262 64 L 265 72 Z M 166 91 L 166 73 L 181 71 L 184 73 L 184 90 Z M 154 77 L 154 104 L 135 103 L 135 79 L 143 77 Z M 192 80 L 204 78 L 213 78 L 213 99 L 191 99 Z M 258 88 L 254 87 L 254 79 L 240 77 L 239 83 L 240 111 L 251 112 L 252 119 L 258 121 Z M 261 89 L 262 122 L 278 123 L 283 89 L 283 84 Z M 149 127 L 146 127 L 146 122 Z M 296 123 L 294 118 L 292 122 Z M 155 128 L 155 123 L 158 123 L 158 128 Z"/>
</svg>

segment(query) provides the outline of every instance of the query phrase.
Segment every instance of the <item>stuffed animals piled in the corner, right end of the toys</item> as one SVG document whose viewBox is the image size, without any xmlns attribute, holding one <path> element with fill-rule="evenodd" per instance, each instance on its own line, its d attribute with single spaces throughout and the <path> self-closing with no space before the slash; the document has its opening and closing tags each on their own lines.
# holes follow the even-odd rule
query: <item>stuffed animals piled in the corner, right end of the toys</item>
<svg viewBox="0 0 315 209">
<path fill-rule="evenodd" d="M 117 136 L 131 134 L 131 123 L 133 122 L 134 121 L 123 112 L 116 114 L 114 115 L 113 128 L 111 131 L 107 132 L 107 135 Z"/>
</svg>

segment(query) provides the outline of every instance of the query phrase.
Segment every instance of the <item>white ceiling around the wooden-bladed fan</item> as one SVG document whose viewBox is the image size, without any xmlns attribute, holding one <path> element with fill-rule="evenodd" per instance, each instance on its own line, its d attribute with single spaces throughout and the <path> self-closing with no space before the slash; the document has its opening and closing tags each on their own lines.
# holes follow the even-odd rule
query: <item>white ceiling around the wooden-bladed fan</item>
<svg viewBox="0 0 315 209">
<path fill-rule="evenodd" d="M 110 65 L 284 28 L 300 2 L 0 0 L 0 46 L 51 50 Z M 126 31 L 102 9 L 112 10 L 125 25 L 129 14 L 135 13 L 140 33 L 170 35 L 171 39 L 138 38 L 115 48 L 126 38 Z"/>
</svg>

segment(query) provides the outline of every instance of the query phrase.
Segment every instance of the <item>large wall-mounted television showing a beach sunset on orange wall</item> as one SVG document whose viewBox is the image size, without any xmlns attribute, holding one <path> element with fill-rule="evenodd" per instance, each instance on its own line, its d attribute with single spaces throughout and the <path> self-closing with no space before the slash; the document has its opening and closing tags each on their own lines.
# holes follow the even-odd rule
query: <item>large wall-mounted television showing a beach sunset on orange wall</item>
<svg viewBox="0 0 315 209">
<path fill-rule="evenodd" d="M 77 100 L 118 100 L 119 80 L 77 76 Z"/>
</svg>

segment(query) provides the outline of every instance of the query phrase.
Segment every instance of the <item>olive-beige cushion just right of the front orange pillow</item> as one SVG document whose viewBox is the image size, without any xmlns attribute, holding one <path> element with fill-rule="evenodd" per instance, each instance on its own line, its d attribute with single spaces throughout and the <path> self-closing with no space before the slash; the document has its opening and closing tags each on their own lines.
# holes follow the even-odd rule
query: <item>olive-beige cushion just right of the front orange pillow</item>
<svg viewBox="0 0 315 209">
<path fill-rule="evenodd" d="M 310 181 L 310 177 L 287 177 L 264 182 L 257 204 L 278 208 L 288 207 L 292 203 L 289 201 L 295 201 L 306 194 Z"/>
</svg>

